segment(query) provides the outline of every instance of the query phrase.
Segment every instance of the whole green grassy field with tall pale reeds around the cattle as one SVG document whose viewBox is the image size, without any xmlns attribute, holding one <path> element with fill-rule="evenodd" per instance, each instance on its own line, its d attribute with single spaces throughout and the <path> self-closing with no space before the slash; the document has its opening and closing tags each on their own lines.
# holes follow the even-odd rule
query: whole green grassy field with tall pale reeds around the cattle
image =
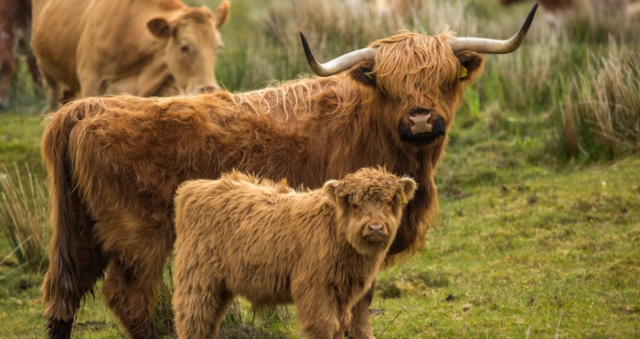
<svg viewBox="0 0 640 339">
<path fill-rule="evenodd" d="M 505 38 L 529 8 L 496 3 L 433 1 L 418 16 L 376 17 L 364 0 L 232 0 L 217 76 L 240 91 L 308 73 L 301 29 L 321 60 L 399 28 Z M 438 169 L 441 215 L 426 246 L 378 276 L 376 338 L 640 338 L 640 38 L 633 22 L 608 25 L 578 17 L 553 31 L 539 15 L 520 51 L 488 56 Z M 37 214 L 44 100 L 24 71 L 0 111 L 0 180 L 24 188 L 16 203 L 0 186 L 0 338 L 44 336 L 43 268 L 21 253 L 46 237 L 16 248 L 2 212 L 24 205 L 25 223 L 47 229 Z M 253 316 L 240 304 L 223 336 L 299 337 L 293 307 Z M 99 293 L 74 337 L 124 337 Z"/>
</svg>

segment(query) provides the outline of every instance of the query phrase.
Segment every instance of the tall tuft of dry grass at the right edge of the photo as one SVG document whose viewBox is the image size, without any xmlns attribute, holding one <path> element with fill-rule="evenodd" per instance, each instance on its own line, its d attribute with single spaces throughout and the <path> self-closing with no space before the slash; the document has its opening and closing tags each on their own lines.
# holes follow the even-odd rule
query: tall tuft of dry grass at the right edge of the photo
<svg viewBox="0 0 640 339">
<path fill-rule="evenodd" d="M 609 43 L 592 53 L 573 77 L 561 106 L 563 146 L 568 155 L 612 158 L 640 152 L 640 52 Z"/>
</svg>

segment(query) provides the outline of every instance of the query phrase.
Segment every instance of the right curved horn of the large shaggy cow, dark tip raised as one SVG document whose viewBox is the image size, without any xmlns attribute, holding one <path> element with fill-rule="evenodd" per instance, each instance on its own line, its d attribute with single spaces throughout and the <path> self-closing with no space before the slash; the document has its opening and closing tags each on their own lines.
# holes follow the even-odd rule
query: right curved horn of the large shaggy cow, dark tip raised
<svg viewBox="0 0 640 339">
<path fill-rule="evenodd" d="M 511 39 L 493 40 L 483 38 L 456 38 L 448 41 L 449 47 L 451 47 L 454 53 L 465 50 L 485 54 L 511 53 L 522 45 L 522 41 L 524 41 L 524 38 L 527 36 L 529 26 L 531 26 L 531 22 L 533 21 L 533 17 L 536 15 L 537 9 L 538 4 L 533 5 L 527 20 L 525 20 L 518 33 L 511 37 Z"/>
</svg>

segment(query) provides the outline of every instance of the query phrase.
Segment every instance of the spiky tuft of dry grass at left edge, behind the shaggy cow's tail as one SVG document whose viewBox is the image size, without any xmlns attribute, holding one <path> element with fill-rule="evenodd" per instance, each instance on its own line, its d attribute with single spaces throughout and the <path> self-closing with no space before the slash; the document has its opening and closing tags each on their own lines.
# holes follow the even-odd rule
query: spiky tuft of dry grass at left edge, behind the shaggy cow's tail
<svg viewBox="0 0 640 339">
<path fill-rule="evenodd" d="M 29 167 L 25 169 L 26 175 L 23 175 L 14 164 L 15 176 L 5 166 L 0 172 L 0 232 L 6 234 L 13 248 L 2 261 L 13 254 L 24 270 L 43 273 L 49 266 L 49 194 L 46 185 L 33 176 Z"/>
</svg>

